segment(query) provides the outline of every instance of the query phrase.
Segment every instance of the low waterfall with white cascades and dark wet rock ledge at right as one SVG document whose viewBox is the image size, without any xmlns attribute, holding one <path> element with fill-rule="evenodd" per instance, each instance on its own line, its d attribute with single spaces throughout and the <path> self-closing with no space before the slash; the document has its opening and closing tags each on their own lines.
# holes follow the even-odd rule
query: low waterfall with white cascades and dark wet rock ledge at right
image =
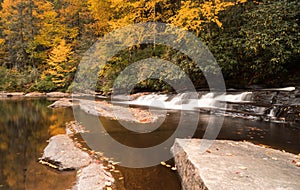
<svg viewBox="0 0 300 190">
<path fill-rule="evenodd" d="M 259 89 L 252 92 L 147 94 L 120 104 L 166 110 L 212 111 L 211 113 L 265 121 L 300 121 L 300 90 L 295 87 Z M 226 104 L 226 109 L 225 109 Z M 221 108 L 221 109 L 220 109 Z M 298 125 L 298 124 L 297 124 Z"/>
</svg>

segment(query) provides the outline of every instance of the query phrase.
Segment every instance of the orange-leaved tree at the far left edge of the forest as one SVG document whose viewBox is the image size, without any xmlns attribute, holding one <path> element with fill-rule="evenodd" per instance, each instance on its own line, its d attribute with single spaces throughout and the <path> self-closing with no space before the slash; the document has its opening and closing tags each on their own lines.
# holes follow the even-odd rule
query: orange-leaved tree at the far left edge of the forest
<svg viewBox="0 0 300 190">
<path fill-rule="evenodd" d="M 30 0 L 4 0 L 0 12 L 2 29 L 2 44 L 7 57 L 4 63 L 9 67 L 24 67 L 28 65 L 28 42 L 31 40 L 32 25 L 30 21 Z"/>
</svg>

